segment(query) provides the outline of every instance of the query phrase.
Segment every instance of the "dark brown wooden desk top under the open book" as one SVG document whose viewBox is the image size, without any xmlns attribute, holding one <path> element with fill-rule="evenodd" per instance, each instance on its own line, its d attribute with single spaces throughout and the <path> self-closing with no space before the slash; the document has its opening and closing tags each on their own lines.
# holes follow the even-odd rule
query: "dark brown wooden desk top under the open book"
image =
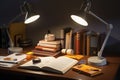
<svg viewBox="0 0 120 80">
<path fill-rule="evenodd" d="M 51 79 L 51 80 L 114 80 L 117 70 L 119 68 L 120 64 L 120 57 L 107 57 L 108 65 L 101 67 L 103 74 L 95 76 L 95 77 L 89 77 L 84 74 L 79 74 L 72 69 L 69 70 L 64 75 L 60 74 L 53 74 L 53 73 L 47 73 L 42 71 L 31 71 L 31 70 L 25 70 L 25 69 L 18 69 L 17 67 L 13 68 L 2 68 L 0 67 L 0 75 L 4 74 L 6 75 L 19 75 L 21 76 L 27 76 L 27 77 L 34 77 L 36 79 Z"/>
</svg>

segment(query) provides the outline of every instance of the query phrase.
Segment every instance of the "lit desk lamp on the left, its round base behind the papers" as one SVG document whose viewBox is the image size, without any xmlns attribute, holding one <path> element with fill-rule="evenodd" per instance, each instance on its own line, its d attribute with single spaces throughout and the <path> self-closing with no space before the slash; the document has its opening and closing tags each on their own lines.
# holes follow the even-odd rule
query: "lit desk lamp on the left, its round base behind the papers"
<svg viewBox="0 0 120 80">
<path fill-rule="evenodd" d="M 26 1 L 24 2 L 23 5 L 20 6 L 20 9 L 21 9 L 21 13 L 17 16 L 15 16 L 9 23 L 11 24 L 12 22 L 14 22 L 17 18 L 21 17 L 22 15 L 25 14 L 25 24 L 28 24 L 28 23 L 32 23 L 34 21 L 36 21 L 40 15 L 36 15 L 32 12 L 32 9 L 30 8 L 30 4 L 28 4 Z M 11 39 L 11 36 L 9 34 L 9 32 L 7 31 L 7 34 L 8 34 L 8 37 L 9 37 L 9 40 L 10 40 L 10 47 L 8 48 L 8 50 L 10 51 L 22 51 L 23 49 L 21 47 L 15 47 L 14 46 L 14 42 L 12 41 Z"/>
</svg>

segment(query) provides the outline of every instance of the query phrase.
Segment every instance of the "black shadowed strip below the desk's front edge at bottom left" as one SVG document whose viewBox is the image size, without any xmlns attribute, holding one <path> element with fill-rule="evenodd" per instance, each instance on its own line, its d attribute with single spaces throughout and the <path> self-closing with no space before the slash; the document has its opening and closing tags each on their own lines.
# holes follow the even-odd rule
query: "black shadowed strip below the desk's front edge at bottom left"
<svg viewBox="0 0 120 80">
<path fill-rule="evenodd" d="M 73 79 L 61 79 L 61 78 L 53 78 L 48 76 L 27 76 L 27 75 L 20 75 L 20 74 L 8 74 L 7 73 L 0 73 L 0 80 L 73 80 Z"/>
</svg>

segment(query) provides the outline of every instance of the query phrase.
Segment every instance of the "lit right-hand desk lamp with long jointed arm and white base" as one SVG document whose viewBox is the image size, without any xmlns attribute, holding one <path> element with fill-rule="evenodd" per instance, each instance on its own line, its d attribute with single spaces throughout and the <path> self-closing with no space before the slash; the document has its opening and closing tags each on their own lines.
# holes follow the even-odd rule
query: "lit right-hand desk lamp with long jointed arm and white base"
<svg viewBox="0 0 120 80">
<path fill-rule="evenodd" d="M 106 37 L 105 37 L 105 39 L 104 39 L 104 41 L 103 41 L 103 44 L 102 44 L 102 46 L 101 46 L 101 49 L 98 51 L 97 56 L 91 56 L 91 57 L 89 57 L 89 58 L 88 58 L 88 63 L 89 63 L 89 64 L 94 64 L 94 65 L 97 65 L 97 66 L 106 65 L 106 64 L 107 64 L 107 60 L 106 60 L 105 57 L 102 57 L 102 53 L 103 53 L 103 50 L 104 50 L 105 45 L 106 45 L 106 43 L 107 43 L 107 40 L 108 40 L 108 38 L 109 38 L 109 36 L 110 36 L 111 30 L 112 30 L 112 28 L 113 28 L 113 25 L 105 22 L 103 19 L 101 19 L 100 17 L 98 17 L 97 15 L 95 15 L 92 11 L 90 11 L 91 0 L 85 0 L 85 1 L 83 2 L 83 5 L 86 6 L 86 7 L 84 8 L 84 14 L 85 14 L 85 15 L 86 15 L 86 14 L 92 15 L 93 17 L 95 17 L 96 19 L 98 19 L 100 22 L 102 22 L 103 24 L 105 24 L 106 27 L 107 27 L 107 30 L 108 30 L 108 31 L 107 31 L 107 34 L 106 34 Z M 82 5 L 82 7 L 83 7 L 83 5 Z M 81 9 L 82 9 L 82 8 L 81 8 Z M 79 13 L 79 14 L 80 14 L 80 13 Z M 80 24 L 80 25 L 82 25 L 82 26 L 88 26 L 87 21 L 84 19 L 85 16 L 84 16 L 84 18 L 82 18 L 82 17 L 80 17 L 80 16 L 78 16 L 78 15 L 71 15 L 71 18 L 72 18 L 76 23 L 78 23 L 78 24 Z"/>
</svg>

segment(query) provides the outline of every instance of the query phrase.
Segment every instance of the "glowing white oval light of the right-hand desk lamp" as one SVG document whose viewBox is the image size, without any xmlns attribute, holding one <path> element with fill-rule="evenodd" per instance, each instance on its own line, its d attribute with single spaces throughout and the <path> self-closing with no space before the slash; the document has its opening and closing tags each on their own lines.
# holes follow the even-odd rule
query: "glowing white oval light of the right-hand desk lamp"
<svg viewBox="0 0 120 80">
<path fill-rule="evenodd" d="M 71 18 L 78 24 L 82 26 L 88 26 L 88 23 L 81 17 L 76 16 L 76 15 L 71 15 Z"/>
</svg>

